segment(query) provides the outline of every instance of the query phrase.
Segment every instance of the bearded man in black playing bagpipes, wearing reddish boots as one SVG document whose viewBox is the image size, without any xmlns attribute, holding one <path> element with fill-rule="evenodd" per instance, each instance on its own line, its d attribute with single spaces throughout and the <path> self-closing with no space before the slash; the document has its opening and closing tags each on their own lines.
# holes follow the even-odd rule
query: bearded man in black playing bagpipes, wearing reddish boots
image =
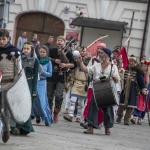
<svg viewBox="0 0 150 150">
<path fill-rule="evenodd" d="M 62 49 L 65 46 L 64 36 L 60 35 L 57 37 L 57 46 L 58 48 L 51 49 L 49 53 L 49 57 L 52 62 L 52 77 L 47 78 L 47 94 L 51 113 L 55 95 L 54 122 L 58 122 L 58 114 L 61 111 L 63 92 L 67 77 L 67 72 L 65 70 L 62 70 L 63 74 L 60 74 L 60 69 L 73 68 L 75 63 L 72 53 L 67 49 L 65 49 L 64 52 L 66 52 L 65 59 L 68 60 L 68 63 L 63 63 L 60 60 L 61 54 L 63 53 Z"/>
</svg>

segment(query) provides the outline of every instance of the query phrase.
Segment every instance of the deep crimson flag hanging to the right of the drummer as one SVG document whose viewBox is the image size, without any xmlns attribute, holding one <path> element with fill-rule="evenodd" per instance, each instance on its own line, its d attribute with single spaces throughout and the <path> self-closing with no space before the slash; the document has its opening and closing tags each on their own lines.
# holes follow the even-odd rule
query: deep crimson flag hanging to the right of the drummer
<svg viewBox="0 0 150 150">
<path fill-rule="evenodd" d="M 119 52 L 118 56 L 120 63 L 122 64 L 122 68 L 126 69 L 129 64 L 126 48 L 122 47 L 121 51 Z"/>
</svg>

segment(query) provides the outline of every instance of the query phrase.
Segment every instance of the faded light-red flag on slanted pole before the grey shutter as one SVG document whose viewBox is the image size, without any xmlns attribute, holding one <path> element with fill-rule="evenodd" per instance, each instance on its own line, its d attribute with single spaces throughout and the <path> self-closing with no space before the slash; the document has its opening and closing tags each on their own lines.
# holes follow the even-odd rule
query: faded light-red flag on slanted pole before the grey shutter
<svg viewBox="0 0 150 150">
<path fill-rule="evenodd" d="M 101 43 L 101 38 L 97 39 L 96 41 L 94 41 L 92 44 L 90 44 L 87 47 L 87 56 L 97 56 L 97 46 L 98 44 Z"/>
</svg>

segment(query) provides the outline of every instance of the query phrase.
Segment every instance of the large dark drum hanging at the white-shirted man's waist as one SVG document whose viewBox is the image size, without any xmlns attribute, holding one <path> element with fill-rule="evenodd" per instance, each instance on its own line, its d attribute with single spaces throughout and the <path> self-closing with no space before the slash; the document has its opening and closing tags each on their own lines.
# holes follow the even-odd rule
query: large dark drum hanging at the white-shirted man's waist
<svg viewBox="0 0 150 150">
<path fill-rule="evenodd" d="M 98 109 L 119 105 L 116 84 L 112 78 L 93 81 L 93 95 Z"/>
</svg>

